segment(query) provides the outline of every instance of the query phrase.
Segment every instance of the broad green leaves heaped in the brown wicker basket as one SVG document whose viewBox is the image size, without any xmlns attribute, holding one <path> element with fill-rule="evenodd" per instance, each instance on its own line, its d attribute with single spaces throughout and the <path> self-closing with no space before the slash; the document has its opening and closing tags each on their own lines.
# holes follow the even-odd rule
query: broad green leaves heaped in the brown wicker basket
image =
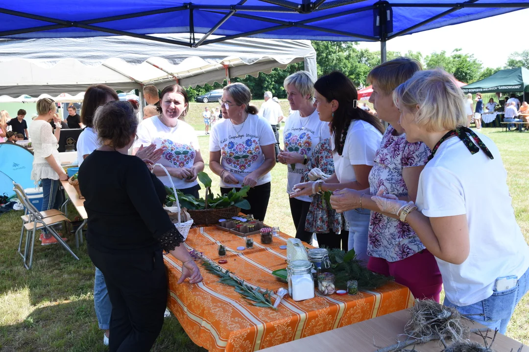
<svg viewBox="0 0 529 352">
<path fill-rule="evenodd" d="M 227 208 L 234 205 L 241 209 L 250 209 L 250 203 L 244 199 L 250 189 L 250 186 L 244 186 L 239 191 L 235 191 L 235 188 L 233 188 L 229 193 L 224 195 L 217 194 L 215 197 L 213 193 L 211 193 L 211 178 L 209 178 L 205 172 L 200 172 L 197 176 L 200 183 L 202 183 L 206 188 L 207 208 Z M 178 189 L 176 190 L 175 194 L 173 190 L 167 186 L 166 192 L 167 206 L 172 206 L 172 203 L 176 202 L 178 197 L 178 202 L 183 208 L 187 208 L 189 210 L 206 209 L 206 199 L 202 197 L 197 199 L 195 196 L 181 193 Z"/>
</svg>

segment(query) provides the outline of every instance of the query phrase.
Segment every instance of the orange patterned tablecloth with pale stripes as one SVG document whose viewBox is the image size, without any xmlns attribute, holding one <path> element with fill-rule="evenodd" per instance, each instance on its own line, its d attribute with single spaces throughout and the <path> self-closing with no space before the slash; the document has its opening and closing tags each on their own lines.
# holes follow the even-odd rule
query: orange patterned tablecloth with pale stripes
<svg viewBox="0 0 529 352">
<path fill-rule="evenodd" d="M 254 248 L 236 251 L 244 246 L 243 237 L 216 229 L 191 229 L 186 246 L 203 252 L 217 262 L 217 246 L 221 242 L 228 250 L 222 264 L 248 283 L 277 291 L 287 288 L 271 272 L 286 267 L 286 250 L 279 249 L 289 236 L 273 237 L 271 244 L 260 243 L 253 235 Z M 288 294 L 277 310 L 252 306 L 233 287 L 218 282 L 218 278 L 199 265 L 204 281 L 191 285 L 177 284 L 181 263 L 172 255 L 165 256 L 169 277 L 168 307 L 177 317 L 195 344 L 209 351 L 255 351 L 327 330 L 354 324 L 387 313 L 409 308 L 413 296 L 408 288 L 395 282 L 373 291 L 360 291 L 355 296 L 316 296 L 295 302 Z"/>
</svg>

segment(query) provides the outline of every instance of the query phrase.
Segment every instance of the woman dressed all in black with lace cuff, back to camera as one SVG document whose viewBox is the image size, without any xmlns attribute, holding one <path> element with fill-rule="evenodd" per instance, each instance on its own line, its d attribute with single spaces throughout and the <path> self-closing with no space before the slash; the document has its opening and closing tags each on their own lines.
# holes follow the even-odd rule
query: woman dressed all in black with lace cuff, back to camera
<svg viewBox="0 0 529 352">
<path fill-rule="evenodd" d="M 163 210 L 166 192 L 145 162 L 127 155 L 138 120 L 129 102 L 111 101 L 94 117 L 101 147 L 79 168 L 88 214 L 88 254 L 112 302 L 110 351 L 149 351 L 163 325 L 167 278 L 162 249 L 183 262 L 178 283 L 202 281 L 183 237 Z"/>
</svg>

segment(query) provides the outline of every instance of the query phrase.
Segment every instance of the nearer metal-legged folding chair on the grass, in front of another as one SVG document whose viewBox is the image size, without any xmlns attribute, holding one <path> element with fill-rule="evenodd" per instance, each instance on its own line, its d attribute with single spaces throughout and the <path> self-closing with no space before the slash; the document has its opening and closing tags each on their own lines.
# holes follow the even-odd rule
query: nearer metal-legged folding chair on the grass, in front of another
<svg viewBox="0 0 529 352">
<path fill-rule="evenodd" d="M 70 220 L 64 216 L 64 215 L 54 215 L 50 217 L 43 217 L 40 212 L 35 211 L 34 207 L 31 206 L 31 203 L 29 203 L 24 197 L 22 196 L 22 193 L 17 188 L 13 188 L 13 191 L 15 191 L 16 196 L 19 198 L 20 202 L 28 209 L 28 212 L 33 218 L 33 222 L 29 222 L 24 224 L 24 228 L 26 230 L 26 243 L 24 246 L 24 253 L 22 254 L 23 258 L 23 264 L 24 268 L 31 269 L 31 266 L 33 265 L 33 249 L 35 246 L 35 233 L 37 233 L 37 230 L 46 229 L 50 232 L 50 234 L 57 239 L 57 241 L 72 255 L 75 259 L 79 260 L 77 258 L 77 255 L 75 255 L 74 252 L 70 249 L 70 247 L 61 239 L 61 236 L 53 229 L 53 225 L 57 225 L 60 223 L 67 224 L 70 222 Z M 31 235 L 30 235 L 31 233 Z M 28 260 L 28 253 L 29 253 L 29 260 Z"/>
</svg>

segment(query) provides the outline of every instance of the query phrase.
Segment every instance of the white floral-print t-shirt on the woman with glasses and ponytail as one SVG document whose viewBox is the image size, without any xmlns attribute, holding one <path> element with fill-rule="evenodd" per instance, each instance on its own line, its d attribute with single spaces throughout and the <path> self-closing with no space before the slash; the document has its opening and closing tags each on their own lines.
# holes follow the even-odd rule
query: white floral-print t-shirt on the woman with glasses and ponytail
<svg viewBox="0 0 529 352">
<path fill-rule="evenodd" d="M 246 121 L 232 125 L 230 119 L 218 120 L 209 136 L 209 151 L 221 151 L 221 165 L 229 170 L 239 184 L 226 184 L 221 179 L 221 187 L 242 187 L 244 177 L 258 169 L 265 162 L 262 146 L 275 144 L 272 127 L 267 120 L 249 114 Z M 270 172 L 257 179 L 257 186 L 270 182 Z"/>
</svg>

